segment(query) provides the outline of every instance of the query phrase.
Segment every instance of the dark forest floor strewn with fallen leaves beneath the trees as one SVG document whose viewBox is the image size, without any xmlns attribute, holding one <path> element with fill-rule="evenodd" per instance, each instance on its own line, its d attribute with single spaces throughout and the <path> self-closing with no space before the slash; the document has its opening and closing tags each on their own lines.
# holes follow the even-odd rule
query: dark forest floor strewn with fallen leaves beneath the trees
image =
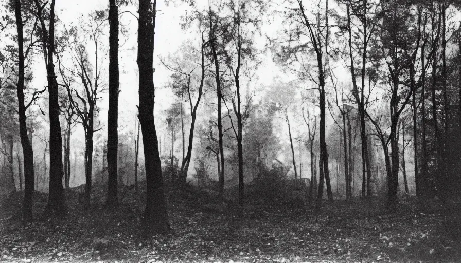
<svg viewBox="0 0 461 263">
<path fill-rule="evenodd" d="M 56 220 L 41 214 L 47 194 L 37 192 L 35 220 L 27 225 L 19 216 L 21 193 L 1 197 L 0 261 L 461 261 L 459 241 L 447 232 L 445 210 L 436 200 L 404 198 L 392 209 L 378 198 L 357 198 L 350 206 L 325 201 L 315 215 L 296 199 L 256 198 L 238 211 L 216 204 L 214 193 L 167 188 L 171 231 L 153 236 L 141 220 L 145 190 L 119 189 L 117 210 L 104 208 L 101 185 L 95 185 L 88 210 L 78 202 L 80 193 L 66 193 L 67 213 Z"/>
</svg>

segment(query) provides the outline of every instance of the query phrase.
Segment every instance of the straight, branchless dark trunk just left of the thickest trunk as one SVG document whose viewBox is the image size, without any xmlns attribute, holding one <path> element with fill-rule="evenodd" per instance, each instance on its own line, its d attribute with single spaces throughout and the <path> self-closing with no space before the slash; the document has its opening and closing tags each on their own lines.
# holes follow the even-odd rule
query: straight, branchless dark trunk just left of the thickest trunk
<svg viewBox="0 0 461 263">
<path fill-rule="evenodd" d="M 116 0 L 109 0 L 109 108 L 107 123 L 107 165 L 110 207 L 118 205 L 118 6 Z"/>
</svg>

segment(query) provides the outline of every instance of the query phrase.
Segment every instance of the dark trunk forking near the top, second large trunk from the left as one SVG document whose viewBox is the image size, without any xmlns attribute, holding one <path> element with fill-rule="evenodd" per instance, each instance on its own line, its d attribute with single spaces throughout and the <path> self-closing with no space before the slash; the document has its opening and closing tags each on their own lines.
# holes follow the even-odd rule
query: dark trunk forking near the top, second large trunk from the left
<svg viewBox="0 0 461 263">
<path fill-rule="evenodd" d="M 34 0 L 38 9 L 37 16 L 41 25 L 43 54 L 48 81 L 49 93 L 49 194 L 46 211 L 51 215 L 61 217 L 64 213 L 64 196 L 62 177 L 62 137 L 59 123 L 58 82 L 56 81 L 54 53 L 55 53 L 55 0 L 51 1 L 49 15 L 42 14 L 44 6 L 39 0 Z M 49 29 L 46 29 L 45 16 L 49 19 Z"/>
</svg>

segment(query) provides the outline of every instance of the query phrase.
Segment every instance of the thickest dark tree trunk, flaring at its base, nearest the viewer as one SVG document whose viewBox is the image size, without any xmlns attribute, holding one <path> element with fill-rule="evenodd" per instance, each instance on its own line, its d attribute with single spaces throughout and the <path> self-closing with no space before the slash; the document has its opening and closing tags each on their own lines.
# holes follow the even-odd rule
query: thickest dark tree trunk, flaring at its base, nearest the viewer
<svg viewBox="0 0 461 263">
<path fill-rule="evenodd" d="M 154 123 L 153 53 L 156 1 L 139 0 L 138 53 L 139 123 L 143 133 L 146 166 L 146 210 L 144 220 L 155 233 L 168 231 L 168 213 L 163 189 L 162 163 Z"/>
</svg>

